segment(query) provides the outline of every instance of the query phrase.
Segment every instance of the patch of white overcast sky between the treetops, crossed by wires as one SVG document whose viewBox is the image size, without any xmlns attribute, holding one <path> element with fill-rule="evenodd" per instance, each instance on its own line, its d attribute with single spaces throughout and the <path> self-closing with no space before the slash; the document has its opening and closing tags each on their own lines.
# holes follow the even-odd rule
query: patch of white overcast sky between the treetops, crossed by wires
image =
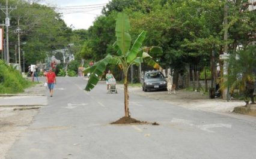
<svg viewBox="0 0 256 159">
<path fill-rule="evenodd" d="M 93 25 L 93 21 L 101 14 L 103 4 L 107 4 L 109 0 L 42 0 L 43 4 L 54 7 L 64 7 L 59 12 L 64 13 L 62 19 L 67 26 L 73 29 L 88 29 Z M 102 5 L 97 5 L 102 4 Z M 87 5 L 91 5 L 88 6 Z M 79 7 L 81 6 L 81 7 Z M 70 8 L 69 8 L 70 7 Z M 75 13 L 81 11 L 82 13 Z"/>
</svg>

